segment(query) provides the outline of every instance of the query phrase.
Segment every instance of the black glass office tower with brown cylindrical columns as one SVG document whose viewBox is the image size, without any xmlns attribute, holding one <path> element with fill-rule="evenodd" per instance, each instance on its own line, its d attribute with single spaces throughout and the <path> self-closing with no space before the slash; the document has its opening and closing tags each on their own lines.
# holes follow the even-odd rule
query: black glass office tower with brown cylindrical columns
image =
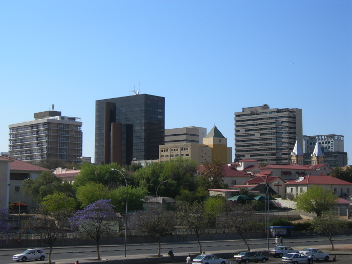
<svg viewBox="0 0 352 264">
<path fill-rule="evenodd" d="M 165 98 L 134 95 L 96 101 L 95 164 L 158 159 Z"/>
</svg>

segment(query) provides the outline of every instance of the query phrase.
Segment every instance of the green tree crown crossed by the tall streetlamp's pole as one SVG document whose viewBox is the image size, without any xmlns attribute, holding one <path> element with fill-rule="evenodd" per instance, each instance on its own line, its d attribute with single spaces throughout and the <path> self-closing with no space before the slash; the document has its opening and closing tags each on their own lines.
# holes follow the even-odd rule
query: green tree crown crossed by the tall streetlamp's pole
<svg viewBox="0 0 352 264">
<path fill-rule="evenodd" d="M 143 201 L 147 195 L 147 190 L 144 187 L 128 186 L 128 210 L 141 210 L 143 209 Z M 126 186 L 121 186 L 111 191 L 111 204 L 115 206 L 116 212 L 126 211 Z"/>
</svg>

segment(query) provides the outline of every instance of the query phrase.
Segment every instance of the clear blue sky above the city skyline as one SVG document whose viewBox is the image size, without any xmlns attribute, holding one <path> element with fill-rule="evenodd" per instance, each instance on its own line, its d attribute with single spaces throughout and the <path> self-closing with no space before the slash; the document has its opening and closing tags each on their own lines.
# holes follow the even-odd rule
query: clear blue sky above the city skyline
<svg viewBox="0 0 352 264">
<path fill-rule="evenodd" d="M 95 101 L 165 97 L 165 128 L 234 112 L 303 109 L 303 134 L 344 135 L 352 155 L 351 1 L 1 1 L 0 152 L 9 124 L 55 110 L 83 122 L 94 158 Z M 348 164 L 351 164 L 351 158 Z"/>
</svg>

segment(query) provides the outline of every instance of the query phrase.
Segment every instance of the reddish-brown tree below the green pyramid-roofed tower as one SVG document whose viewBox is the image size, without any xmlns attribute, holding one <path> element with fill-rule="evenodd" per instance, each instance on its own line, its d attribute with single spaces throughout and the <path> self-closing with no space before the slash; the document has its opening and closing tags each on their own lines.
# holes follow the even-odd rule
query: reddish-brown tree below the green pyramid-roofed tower
<svg viewBox="0 0 352 264">
<path fill-rule="evenodd" d="M 212 160 L 204 162 L 204 171 L 201 172 L 205 180 L 205 189 L 221 189 L 224 188 L 225 170 L 220 160 Z"/>
</svg>

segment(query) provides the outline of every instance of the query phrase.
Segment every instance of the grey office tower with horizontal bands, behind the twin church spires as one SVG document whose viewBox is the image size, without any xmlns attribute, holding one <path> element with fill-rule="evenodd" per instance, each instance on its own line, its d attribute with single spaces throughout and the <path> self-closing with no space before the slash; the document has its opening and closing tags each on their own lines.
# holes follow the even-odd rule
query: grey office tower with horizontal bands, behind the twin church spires
<svg viewBox="0 0 352 264">
<path fill-rule="evenodd" d="M 296 139 L 302 142 L 302 109 L 268 105 L 235 113 L 235 160 L 290 164 Z"/>
</svg>

